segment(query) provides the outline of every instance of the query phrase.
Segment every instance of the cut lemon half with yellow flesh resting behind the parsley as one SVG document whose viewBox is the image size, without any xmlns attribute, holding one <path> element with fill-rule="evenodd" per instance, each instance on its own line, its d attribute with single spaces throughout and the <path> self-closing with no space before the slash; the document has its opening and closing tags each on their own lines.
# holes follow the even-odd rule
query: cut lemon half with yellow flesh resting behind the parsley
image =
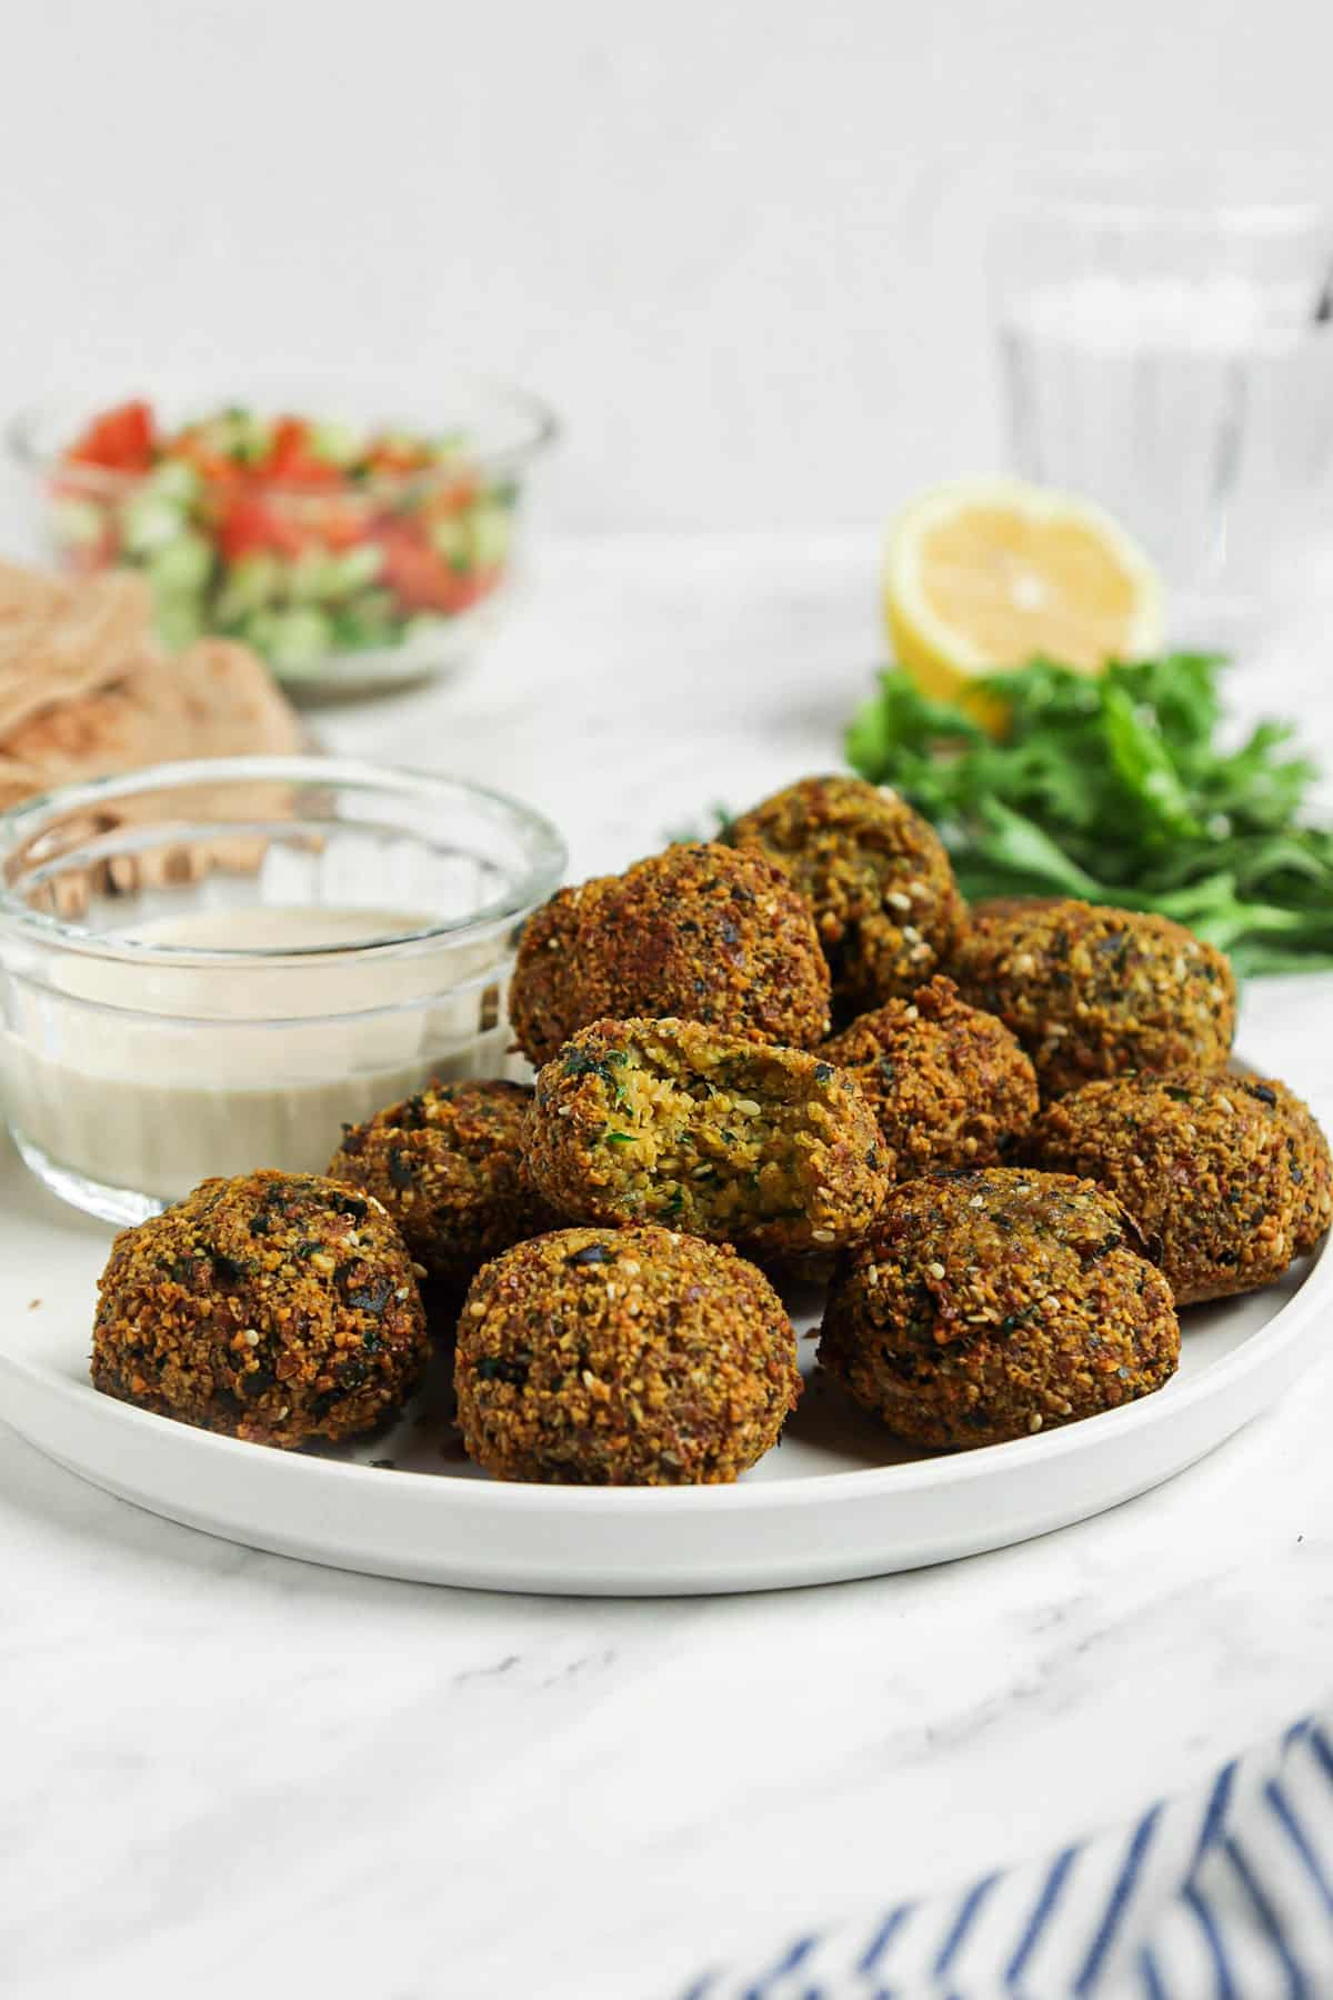
<svg viewBox="0 0 1333 2000">
<path fill-rule="evenodd" d="M 889 532 L 883 610 L 901 666 L 983 720 L 969 682 L 1035 654 L 1083 672 L 1161 646 L 1161 584 L 1133 540 L 1089 500 L 1021 480 L 955 480 Z"/>
</svg>

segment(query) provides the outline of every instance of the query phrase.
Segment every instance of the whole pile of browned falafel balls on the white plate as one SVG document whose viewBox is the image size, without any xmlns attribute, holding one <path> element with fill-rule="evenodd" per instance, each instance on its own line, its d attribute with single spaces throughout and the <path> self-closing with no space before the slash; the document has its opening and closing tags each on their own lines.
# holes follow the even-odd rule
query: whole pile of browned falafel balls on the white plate
<svg viewBox="0 0 1333 2000">
<path fill-rule="evenodd" d="M 1333 1218 L 1305 1104 L 1227 1070 L 1221 952 L 1085 902 L 969 910 L 933 828 L 855 778 L 560 890 L 510 1018 L 534 1088 L 432 1084 L 326 1176 L 210 1180 L 118 1236 L 96 1386 L 262 1444 L 362 1436 L 420 1380 L 426 1284 L 488 1472 L 711 1484 L 801 1394 L 785 1274 L 827 1280 L 839 1390 L 957 1450 L 1161 1388 L 1177 1308 Z"/>
</svg>

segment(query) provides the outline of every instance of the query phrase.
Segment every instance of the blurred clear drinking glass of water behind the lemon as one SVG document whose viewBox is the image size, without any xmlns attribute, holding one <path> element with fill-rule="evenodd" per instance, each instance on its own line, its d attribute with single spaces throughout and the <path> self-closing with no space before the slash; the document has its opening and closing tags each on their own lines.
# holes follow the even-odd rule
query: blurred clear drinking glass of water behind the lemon
<svg viewBox="0 0 1333 2000">
<path fill-rule="evenodd" d="M 991 242 L 1015 470 L 1147 546 L 1213 640 L 1333 554 L 1333 174 L 1301 162 L 1031 170 Z"/>
</svg>

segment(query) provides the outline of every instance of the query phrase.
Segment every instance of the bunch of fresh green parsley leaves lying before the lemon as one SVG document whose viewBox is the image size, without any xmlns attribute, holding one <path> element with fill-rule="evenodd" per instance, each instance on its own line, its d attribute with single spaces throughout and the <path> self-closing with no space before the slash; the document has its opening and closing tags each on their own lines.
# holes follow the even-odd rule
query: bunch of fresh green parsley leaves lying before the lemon
<svg viewBox="0 0 1333 2000">
<path fill-rule="evenodd" d="M 1001 740 L 893 668 L 853 716 L 847 758 L 933 820 L 967 898 L 1159 910 L 1241 974 L 1333 966 L 1333 832 L 1301 822 L 1317 768 L 1287 752 L 1283 722 L 1217 744 L 1221 666 L 1171 654 L 1097 678 L 1051 660 L 989 674 Z"/>
</svg>

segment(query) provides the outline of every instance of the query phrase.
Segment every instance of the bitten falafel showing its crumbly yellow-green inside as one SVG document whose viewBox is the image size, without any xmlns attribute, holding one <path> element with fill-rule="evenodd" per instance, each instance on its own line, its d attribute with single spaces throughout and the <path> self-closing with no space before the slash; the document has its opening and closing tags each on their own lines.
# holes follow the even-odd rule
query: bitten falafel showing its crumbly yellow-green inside
<svg viewBox="0 0 1333 2000">
<path fill-rule="evenodd" d="M 528 1168 L 576 1220 L 781 1254 L 853 1242 L 891 1160 L 857 1086 L 819 1056 L 687 1020 L 600 1020 L 538 1076 Z"/>
</svg>

